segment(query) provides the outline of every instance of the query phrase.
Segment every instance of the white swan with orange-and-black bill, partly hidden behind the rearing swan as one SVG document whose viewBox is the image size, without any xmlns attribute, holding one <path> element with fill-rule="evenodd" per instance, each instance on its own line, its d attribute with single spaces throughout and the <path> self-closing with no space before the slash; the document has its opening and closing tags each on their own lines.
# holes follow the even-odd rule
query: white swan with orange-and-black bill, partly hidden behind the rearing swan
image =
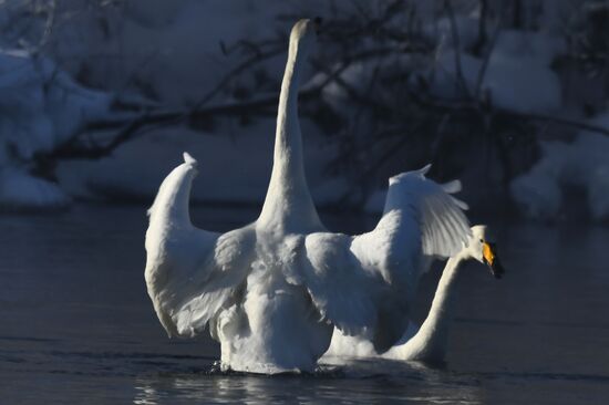
<svg viewBox="0 0 609 405">
<path fill-rule="evenodd" d="M 334 330 L 332 343 L 322 361 L 332 362 L 336 360 L 334 357 L 384 357 L 430 363 L 442 362 L 446 354 L 454 281 L 461 264 L 472 259 L 488 266 L 495 278 L 502 277 L 504 270 L 497 257 L 495 242 L 488 235 L 486 226 L 472 227 L 472 237 L 467 245 L 446 261 L 430 312 L 421 328 L 411 322 L 402 339 L 382 354 L 376 352 L 372 342 L 361 336 L 347 336 L 341 331 Z"/>
</svg>

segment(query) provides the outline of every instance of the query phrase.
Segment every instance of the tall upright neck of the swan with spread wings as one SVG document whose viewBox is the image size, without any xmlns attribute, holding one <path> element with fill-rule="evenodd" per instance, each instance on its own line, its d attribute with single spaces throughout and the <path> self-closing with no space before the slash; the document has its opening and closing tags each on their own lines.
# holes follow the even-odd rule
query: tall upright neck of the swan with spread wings
<svg viewBox="0 0 609 405">
<path fill-rule="evenodd" d="M 302 50 L 301 50 L 302 51 Z M 290 41 L 277 113 L 275 153 L 269 189 L 258 225 L 283 231 L 321 227 L 302 165 L 298 121 L 298 85 L 302 60 L 298 41 Z"/>
</svg>

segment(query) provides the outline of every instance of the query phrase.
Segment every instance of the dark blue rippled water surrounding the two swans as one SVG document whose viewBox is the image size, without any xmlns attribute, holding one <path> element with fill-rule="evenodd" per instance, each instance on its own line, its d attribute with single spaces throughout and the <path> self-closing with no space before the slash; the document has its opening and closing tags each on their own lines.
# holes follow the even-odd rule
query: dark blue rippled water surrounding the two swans
<svg viewBox="0 0 609 405">
<path fill-rule="evenodd" d="M 256 216 L 195 214 L 216 230 Z M 267 377 L 215 372 L 209 339 L 166 338 L 144 285 L 145 226 L 140 207 L 0 217 L 0 404 L 609 403 L 608 228 L 502 228 L 508 273 L 462 271 L 443 367 L 373 361 Z"/>
</svg>

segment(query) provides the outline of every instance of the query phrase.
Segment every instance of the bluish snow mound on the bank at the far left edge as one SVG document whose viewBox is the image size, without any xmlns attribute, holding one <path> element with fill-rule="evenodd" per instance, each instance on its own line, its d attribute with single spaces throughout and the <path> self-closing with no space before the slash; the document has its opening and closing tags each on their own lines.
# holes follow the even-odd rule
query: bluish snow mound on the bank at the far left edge
<svg viewBox="0 0 609 405">
<path fill-rule="evenodd" d="M 80 86 L 48 59 L 11 50 L 0 50 L 0 207 L 66 205 L 61 188 L 31 176 L 27 163 L 107 114 L 111 96 Z"/>
</svg>

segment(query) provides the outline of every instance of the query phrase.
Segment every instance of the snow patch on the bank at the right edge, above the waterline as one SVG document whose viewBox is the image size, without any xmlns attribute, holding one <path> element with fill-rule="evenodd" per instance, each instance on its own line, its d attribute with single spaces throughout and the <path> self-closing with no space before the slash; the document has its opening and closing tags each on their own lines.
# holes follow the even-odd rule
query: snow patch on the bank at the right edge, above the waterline
<svg viewBox="0 0 609 405">
<path fill-rule="evenodd" d="M 609 114 L 591 124 L 609 129 Z M 512 197 L 526 216 L 556 219 L 565 208 L 564 188 L 575 186 L 586 193 L 587 209 L 595 220 L 609 219 L 608 157 L 606 135 L 581 132 L 570 144 L 546 142 L 543 158 L 512 183 Z"/>
</svg>

